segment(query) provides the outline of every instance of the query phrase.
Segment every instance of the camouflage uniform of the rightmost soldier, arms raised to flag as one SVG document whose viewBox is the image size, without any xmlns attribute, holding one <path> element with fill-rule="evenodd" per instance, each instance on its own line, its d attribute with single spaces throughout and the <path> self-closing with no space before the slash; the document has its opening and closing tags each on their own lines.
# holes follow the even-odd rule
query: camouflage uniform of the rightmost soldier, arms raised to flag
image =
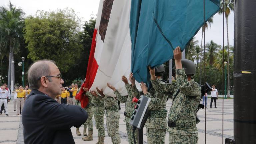
<svg viewBox="0 0 256 144">
<path fill-rule="evenodd" d="M 169 144 L 196 144 L 198 131 L 196 128 L 196 111 L 201 99 L 201 87 L 193 80 L 188 81 L 184 69 L 176 69 L 177 83 L 161 84 L 151 80 L 157 92 L 173 93 L 172 106 L 168 122 L 175 124 L 168 128 Z M 176 93 L 179 94 L 174 98 Z"/>
</svg>

